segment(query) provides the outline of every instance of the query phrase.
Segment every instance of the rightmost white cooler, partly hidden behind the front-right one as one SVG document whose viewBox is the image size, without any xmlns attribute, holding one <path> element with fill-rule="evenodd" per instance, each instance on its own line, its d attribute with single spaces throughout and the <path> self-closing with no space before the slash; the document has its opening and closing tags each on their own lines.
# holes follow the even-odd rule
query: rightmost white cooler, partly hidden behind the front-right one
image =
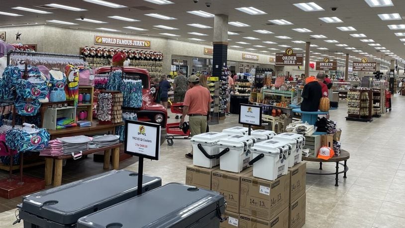
<svg viewBox="0 0 405 228">
<path fill-rule="evenodd" d="M 287 143 L 291 144 L 291 155 L 289 156 L 289 165 L 288 167 L 291 168 L 295 164 L 301 162 L 303 158 L 303 147 L 305 145 L 305 137 L 302 134 L 294 134 L 294 133 L 281 133 L 273 137 L 277 140 L 284 140 Z"/>
</svg>

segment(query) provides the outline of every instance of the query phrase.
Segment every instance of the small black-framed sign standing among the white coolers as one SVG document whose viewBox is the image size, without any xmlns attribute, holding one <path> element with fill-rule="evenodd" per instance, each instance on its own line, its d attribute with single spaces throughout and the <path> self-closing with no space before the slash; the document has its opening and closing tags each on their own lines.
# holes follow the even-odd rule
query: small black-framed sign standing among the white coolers
<svg viewBox="0 0 405 228">
<path fill-rule="evenodd" d="M 251 126 L 262 126 L 262 106 L 240 104 L 239 123 Z"/>
</svg>

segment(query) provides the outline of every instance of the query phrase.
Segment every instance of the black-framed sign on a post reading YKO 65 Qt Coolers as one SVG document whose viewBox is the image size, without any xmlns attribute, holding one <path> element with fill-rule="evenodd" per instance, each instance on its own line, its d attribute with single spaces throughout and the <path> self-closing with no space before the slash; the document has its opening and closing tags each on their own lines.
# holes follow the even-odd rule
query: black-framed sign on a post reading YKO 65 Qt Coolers
<svg viewBox="0 0 405 228">
<path fill-rule="evenodd" d="M 142 194 L 143 158 L 159 160 L 160 125 L 136 120 L 125 120 L 124 151 L 138 156 L 138 195 Z"/>
</svg>

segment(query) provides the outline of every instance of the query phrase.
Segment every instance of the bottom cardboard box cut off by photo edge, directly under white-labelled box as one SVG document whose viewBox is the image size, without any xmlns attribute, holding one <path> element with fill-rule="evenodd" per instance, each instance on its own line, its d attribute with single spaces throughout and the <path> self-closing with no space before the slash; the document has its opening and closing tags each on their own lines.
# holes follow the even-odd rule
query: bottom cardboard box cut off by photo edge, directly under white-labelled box
<svg viewBox="0 0 405 228">
<path fill-rule="evenodd" d="M 280 214 L 269 221 L 256 219 L 251 216 L 239 216 L 239 228 L 288 228 L 289 208 L 284 209 Z"/>
</svg>

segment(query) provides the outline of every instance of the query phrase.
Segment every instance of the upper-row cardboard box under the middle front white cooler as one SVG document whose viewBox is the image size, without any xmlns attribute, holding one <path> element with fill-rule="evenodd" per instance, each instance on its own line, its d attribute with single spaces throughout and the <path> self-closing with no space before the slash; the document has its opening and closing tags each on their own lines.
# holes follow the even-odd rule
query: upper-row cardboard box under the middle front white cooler
<svg viewBox="0 0 405 228">
<path fill-rule="evenodd" d="M 239 213 L 240 179 L 252 171 L 252 167 L 240 173 L 232 173 L 219 169 L 212 171 L 211 190 L 219 192 L 225 198 L 227 211 Z"/>
</svg>

